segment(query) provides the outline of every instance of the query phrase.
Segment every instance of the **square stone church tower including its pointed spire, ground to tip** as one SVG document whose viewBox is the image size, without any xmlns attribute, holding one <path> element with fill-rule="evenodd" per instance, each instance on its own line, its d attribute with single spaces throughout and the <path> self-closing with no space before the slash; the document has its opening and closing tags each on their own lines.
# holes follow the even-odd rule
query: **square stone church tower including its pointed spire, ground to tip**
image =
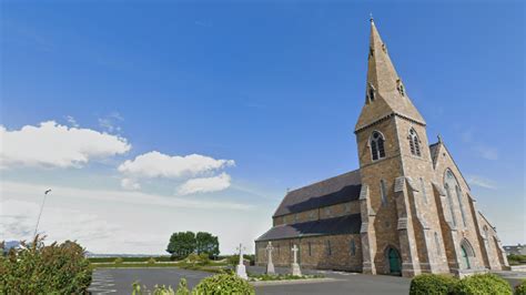
<svg viewBox="0 0 526 295">
<path fill-rule="evenodd" d="M 437 272 L 442 262 L 431 236 L 441 227 L 426 123 L 373 19 L 367 62 L 364 105 L 354 131 L 362 177 L 363 272 Z"/>
</svg>

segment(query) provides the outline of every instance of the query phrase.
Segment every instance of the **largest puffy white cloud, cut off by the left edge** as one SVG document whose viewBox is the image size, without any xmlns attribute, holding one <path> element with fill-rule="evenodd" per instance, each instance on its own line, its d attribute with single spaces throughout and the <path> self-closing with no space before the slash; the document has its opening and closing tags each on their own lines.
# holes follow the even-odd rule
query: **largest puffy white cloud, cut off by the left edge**
<svg viewBox="0 0 526 295">
<path fill-rule="evenodd" d="M 9 131 L 0 125 L 0 167 L 80 167 L 92 159 L 123 154 L 131 149 L 121 136 L 54 121 Z"/>
</svg>

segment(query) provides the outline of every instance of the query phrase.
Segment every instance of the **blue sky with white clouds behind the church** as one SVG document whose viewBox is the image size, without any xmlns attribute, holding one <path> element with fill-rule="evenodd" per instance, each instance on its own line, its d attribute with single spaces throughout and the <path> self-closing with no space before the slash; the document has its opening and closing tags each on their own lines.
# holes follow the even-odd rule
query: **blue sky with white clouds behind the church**
<svg viewBox="0 0 526 295">
<path fill-rule="evenodd" d="M 1 1 L 0 240 L 223 254 L 358 167 L 370 13 L 504 244 L 526 242 L 520 1 Z"/>
</svg>

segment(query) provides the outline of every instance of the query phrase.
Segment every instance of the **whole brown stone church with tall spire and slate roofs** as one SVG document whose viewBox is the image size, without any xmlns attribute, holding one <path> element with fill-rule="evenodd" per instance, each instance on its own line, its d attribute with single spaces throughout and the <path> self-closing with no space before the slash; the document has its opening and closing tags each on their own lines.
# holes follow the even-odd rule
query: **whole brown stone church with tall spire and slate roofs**
<svg viewBox="0 0 526 295">
<path fill-rule="evenodd" d="M 290 191 L 255 241 L 256 263 L 366 274 L 467 275 L 508 267 L 495 227 L 446 145 L 429 144 L 371 20 L 365 100 L 356 122 L 360 169 Z"/>
</svg>

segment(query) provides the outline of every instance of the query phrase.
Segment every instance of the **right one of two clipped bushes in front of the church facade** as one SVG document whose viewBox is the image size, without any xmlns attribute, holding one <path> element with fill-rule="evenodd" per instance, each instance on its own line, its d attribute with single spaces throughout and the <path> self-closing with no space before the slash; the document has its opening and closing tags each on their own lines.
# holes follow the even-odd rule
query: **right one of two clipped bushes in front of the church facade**
<svg viewBox="0 0 526 295">
<path fill-rule="evenodd" d="M 512 286 L 504 278 L 494 274 L 472 275 L 461 279 L 453 288 L 455 295 L 471 294 L 509 294 Z"/>
</svg>

